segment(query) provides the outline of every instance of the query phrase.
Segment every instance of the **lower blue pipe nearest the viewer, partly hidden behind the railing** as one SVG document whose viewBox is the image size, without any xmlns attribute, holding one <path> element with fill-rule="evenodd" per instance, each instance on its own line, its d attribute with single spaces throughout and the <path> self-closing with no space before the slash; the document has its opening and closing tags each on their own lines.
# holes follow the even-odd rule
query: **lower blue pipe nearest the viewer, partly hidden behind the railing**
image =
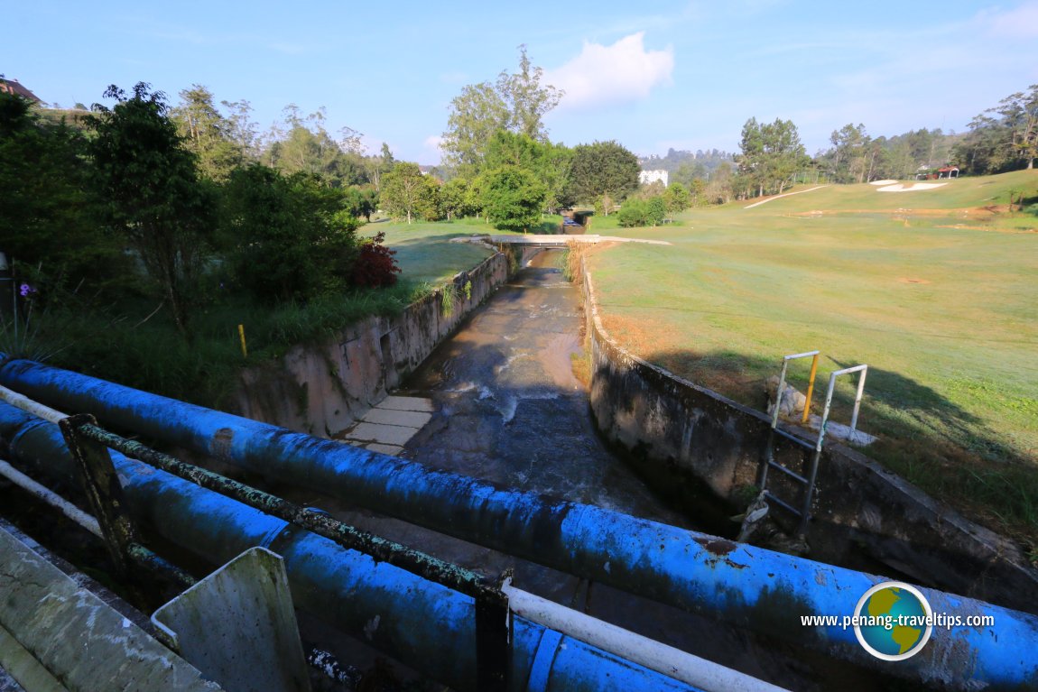
<svg viewBox="0 0 1038 692">
<path fill-rule="evenodd" d="M 73 473 L 56 425 L 0 404 L 0 435 L 19 463 L 53 475 Z M 458 689 L 475 688 L 471 598 L 111 454 L 131 511 L 167 541 L 216 564 L 253 546 L 270 548 L 284 559 L 296 606 L 430 677 Z M 514 618 L 513 635 L 516 690 L 698 689 L 521 617 Z M 529 681 L 541 686 L 527 687 Z"/>
</svg>

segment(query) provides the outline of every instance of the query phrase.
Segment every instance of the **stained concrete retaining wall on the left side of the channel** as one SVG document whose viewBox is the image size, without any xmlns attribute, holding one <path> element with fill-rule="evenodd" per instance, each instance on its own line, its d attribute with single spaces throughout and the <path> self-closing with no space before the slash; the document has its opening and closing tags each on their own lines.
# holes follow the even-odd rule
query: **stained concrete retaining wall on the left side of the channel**
<svg viewBox="0 0 1038 692">
<path fill-rule="evenodd" d="M 226 408 L 255 420 L 332 437 L 414 370 L 508 273 L 508 259 L 498 252 L 455 276 L 449 314 L 443 309 L 441 287 L 401 315 L 368 317 L 336 338 L 293 348 L 279 363 L 247 368 Z"/>
</svg>

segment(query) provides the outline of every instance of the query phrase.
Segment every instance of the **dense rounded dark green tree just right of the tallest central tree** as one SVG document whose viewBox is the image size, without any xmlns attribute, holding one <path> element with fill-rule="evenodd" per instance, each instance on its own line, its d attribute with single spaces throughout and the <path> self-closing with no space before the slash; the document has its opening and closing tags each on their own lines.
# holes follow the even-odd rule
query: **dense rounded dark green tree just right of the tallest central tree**
<svg viewBox="0 0 1038 692">
<path fill-rule="evenodd" d="M 616 141 L 579 144 L 570 165 L 570 193 L 579 201 L 596 201 L 608 215 L 612 203 L 637 189 L 640 170 L 637 157 Z"/>
</svg>

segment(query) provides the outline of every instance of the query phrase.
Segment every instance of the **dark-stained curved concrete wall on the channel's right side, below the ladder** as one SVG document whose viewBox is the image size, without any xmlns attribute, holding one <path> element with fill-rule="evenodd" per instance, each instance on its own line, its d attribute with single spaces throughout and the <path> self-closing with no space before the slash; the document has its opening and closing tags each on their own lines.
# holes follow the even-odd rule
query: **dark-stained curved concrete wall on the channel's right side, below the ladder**
<svg viewBox="0 0 1038 692">
<path fill-rule="evenodd" d="M 591 407 L 601 433 L 628 450 L 651 486 L 686 506 L 704 485 L 733 504 L 743 499 L 757 483 L 770 419 L 620 347 L 602 327 L 586 271 L 584 298 Z M 775 441 L 777 461 L 803 475 L 811 453 Z M 799 489 L 784 485 L 782 474 L 772 471 L 768 485 L 800 504 Z M 771 514 L 795 527 L 785 510 Z M 1038 612 L 1038 571 L 1015 544 L 850 448 L 826 444 L 812 515 L 813 558 L 841 562 L 866 551 L 923 584 Z"/>
</svg>

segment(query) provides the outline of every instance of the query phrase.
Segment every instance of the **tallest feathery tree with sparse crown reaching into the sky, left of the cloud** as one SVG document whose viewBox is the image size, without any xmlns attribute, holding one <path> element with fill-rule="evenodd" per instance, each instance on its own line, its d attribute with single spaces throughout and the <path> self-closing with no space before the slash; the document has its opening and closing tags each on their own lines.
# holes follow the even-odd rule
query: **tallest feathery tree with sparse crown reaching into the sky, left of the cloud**
<svg viewBox="0 0 1038 692">
<path fill-rule="evenodd" d="M 547 142 L 543 117 L 558 105 L 563 91 L 542 85 L 544 71 L 531 67 L 526 47 L 519 47 L 519 72 L 502 71 L 494 84 L 469 84 L 450 102 L 440 148 L 445 163 L 464 177 L 484 168 L 487 146 L 499 130 Z"/>
</svg>

